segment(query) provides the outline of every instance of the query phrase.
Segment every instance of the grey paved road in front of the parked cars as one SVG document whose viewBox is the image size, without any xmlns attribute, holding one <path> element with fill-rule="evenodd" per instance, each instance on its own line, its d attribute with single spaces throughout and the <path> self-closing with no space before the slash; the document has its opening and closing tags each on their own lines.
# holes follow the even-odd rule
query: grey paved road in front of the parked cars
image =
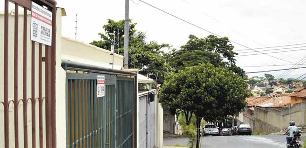
<svg viewBox="0 0 306 148">
<path fill-rule="evenodd" d="M 202 148 L 286 148 L 284 135 L 214 136 L 201 138 Z M 187 141 L 187 138 L 164 138 L 164 145 L 187 145 Z"/>
</svg>

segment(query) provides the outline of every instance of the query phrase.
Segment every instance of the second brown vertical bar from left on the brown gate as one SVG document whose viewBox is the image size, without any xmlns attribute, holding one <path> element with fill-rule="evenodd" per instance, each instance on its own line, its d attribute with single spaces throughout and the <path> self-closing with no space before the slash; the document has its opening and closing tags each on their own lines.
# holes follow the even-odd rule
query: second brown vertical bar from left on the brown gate
<svg viewBox="0 0 306 148">
<path fill-rule="evenodd" d="M 14 126 L 15 126 L 15 148 L 19 147 L 18 136 L 18 15 L 19 5 L 15 3 L 15 36 L 14 36 Z"/>
</svg>

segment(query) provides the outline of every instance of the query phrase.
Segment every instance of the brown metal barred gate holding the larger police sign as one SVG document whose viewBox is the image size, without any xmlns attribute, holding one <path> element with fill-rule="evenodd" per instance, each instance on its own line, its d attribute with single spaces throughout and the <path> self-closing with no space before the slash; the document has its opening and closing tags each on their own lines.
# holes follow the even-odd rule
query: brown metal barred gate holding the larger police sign
<svg viewBox="0 0 306 148">
<path fill-rule="evenodd" d="M 4 6 L 4 17 L 0 16 L 4 36 L 0 37 L 0 147 L 4 148 L 56 147 L 56 1 L 35 0 L 52 12 L 52 46 L 30 40 L 31 2 L 1 0 L 0 4 Z"/>
</svg>

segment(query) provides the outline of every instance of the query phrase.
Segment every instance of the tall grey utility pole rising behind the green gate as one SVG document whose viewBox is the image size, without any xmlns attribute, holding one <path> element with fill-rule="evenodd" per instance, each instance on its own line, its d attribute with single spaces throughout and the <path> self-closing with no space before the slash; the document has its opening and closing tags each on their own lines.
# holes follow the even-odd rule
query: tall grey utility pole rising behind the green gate
<svg viewBox="0 0 306 148">
<path fill-rule="evenodd" d="M 129 0 L 125 0 L 125 20 L 124 20 L 124 68 L 128 69 L 128 40 L 129 40 Z"/>
</svg>

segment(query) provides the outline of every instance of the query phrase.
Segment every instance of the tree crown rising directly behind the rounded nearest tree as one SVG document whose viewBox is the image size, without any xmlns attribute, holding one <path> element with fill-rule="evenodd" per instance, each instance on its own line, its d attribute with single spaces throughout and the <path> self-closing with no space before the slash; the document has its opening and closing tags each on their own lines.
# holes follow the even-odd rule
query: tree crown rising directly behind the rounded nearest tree
<svg viewBox="0 0 306 148">
<path fill-rule="evenodd" d="M 210 35 L 198 38 L 194 35 L 189 36 L 189 40 L 180 50 L 172 50 L 169 53 L 168 62 L 172 65 L 175 72 L 183 70 L 185 67 L 196 66 L 199 63 L 211 63 L 214 66 L 228 67 L 240 76 L 245 76 L 244 71 L 237 67 L 233 51 L 234 46 L 230 44 L 228 37 L 216 37 Z"/>
</svg>

